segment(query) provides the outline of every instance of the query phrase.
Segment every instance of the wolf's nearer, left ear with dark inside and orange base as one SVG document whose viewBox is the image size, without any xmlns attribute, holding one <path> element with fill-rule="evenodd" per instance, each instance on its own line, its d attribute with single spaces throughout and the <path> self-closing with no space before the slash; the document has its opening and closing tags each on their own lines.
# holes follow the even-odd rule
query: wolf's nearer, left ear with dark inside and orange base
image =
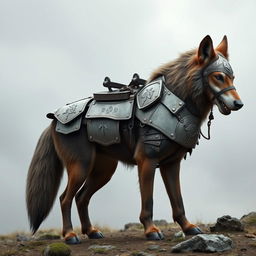
<svg viewBox="0 0 256 256">
<path fill-rule="evenodd" d="M 206 64 L 211 61 L 216 56 L 212 39 L 209 35 L 207 35 L 200 43 L 197 58 L 200 64 Z"/>
</svg>

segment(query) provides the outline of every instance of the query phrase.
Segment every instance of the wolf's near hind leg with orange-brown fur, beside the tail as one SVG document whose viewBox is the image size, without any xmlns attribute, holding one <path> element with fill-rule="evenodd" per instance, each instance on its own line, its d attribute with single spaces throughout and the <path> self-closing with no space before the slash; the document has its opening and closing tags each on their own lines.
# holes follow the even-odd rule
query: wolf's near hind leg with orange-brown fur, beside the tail
<svg viewBox="0 0 256 256">
<path fill-rule="evenodd" d="M 68 174 L 66 189 L 60 196 L 63 220 L 62 234 L 66 243 L 76 244 L 80 240 L 73 230 L 71 206 L 75 195 L 93 168 L 95 146 L 88 141 L 85 129 L 68 135 L 54 132 L 53 138 L 57 153 Z"/>
</svg>

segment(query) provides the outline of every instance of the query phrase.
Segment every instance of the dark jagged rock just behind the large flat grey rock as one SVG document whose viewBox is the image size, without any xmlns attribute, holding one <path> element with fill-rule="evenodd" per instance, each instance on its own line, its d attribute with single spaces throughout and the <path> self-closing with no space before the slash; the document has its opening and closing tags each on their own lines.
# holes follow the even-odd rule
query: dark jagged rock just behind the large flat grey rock
<svg viewBox="0 0 256 256">
<path fill-rule="evenodd" d="M 218 218 L 215 226 L 210 227 L 210 230 L 211 232 L 244 231 L 244 225 L 239 219 L 225 215 Z"/>
</svg>

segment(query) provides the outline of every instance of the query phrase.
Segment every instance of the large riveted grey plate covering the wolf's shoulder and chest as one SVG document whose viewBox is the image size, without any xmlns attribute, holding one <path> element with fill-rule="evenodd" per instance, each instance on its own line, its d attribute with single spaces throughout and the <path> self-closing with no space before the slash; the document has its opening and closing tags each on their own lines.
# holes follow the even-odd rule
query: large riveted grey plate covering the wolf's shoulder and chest
<svg viewBox="0 0 256 256">
<path fill-rule="evenodd" d="M 186 148 L 198 142 L 201 121 L 192 115 L 185 103 L 165 86 L 161 100 L 148 109 L 136 109 L 141 123 L 154 127 L 169 139 Z"/>
</svg>

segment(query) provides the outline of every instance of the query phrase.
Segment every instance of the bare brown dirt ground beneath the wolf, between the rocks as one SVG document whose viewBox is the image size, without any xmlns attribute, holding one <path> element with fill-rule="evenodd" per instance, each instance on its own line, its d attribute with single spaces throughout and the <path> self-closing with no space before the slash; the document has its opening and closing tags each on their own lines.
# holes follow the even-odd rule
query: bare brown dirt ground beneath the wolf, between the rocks
<svg viewBox="0 0 256 256">
<path fill-rule="evenodd" d="M 202 225 L 201 229 L 205 233 L 209 232 L 209 227 Z M 149 256 L 149 255 L 186 255 L 186 256 L 209 256 L 209 253 L 187 252 L 187 253 L 171 253 L 171 247 L 176 245 L 177 241 L 173 241 L 174 233 L 180 231 L 178 227 L 162 228 L 165 239 L 162 241 L 147 241 L 143 236 L 142 230 L 120 230 L 107 231 L 104 233 L 105 238 L 99 240 L 90 240 L 81 236 L 82 242 L 78 245 L 70 246 L 71 255 L 75 256 Z M 233 249 L 223 253 L 214 253 L 213 255 L 226 256 L 256 256 L 256 239 L 253 234 L 256 230 L 246 232 L 229 232 L 222 234 L 233 240 Z M 256 234 L 256 233 L 255 233 Z M 186 237 L 188 239 L 190 237 Z M 31 240 L 26 242 L 17 242 L 16 236 L 0 237 L 0 256 L 39 256 L 42 250 L 51 243 L 62 242 L 57 240 Z M 89 249 L 92 245 L 111 245 L 114 248 L 110 250 Z M 156 246 L 154 246 L 156 245 Z"/>
</svg>

